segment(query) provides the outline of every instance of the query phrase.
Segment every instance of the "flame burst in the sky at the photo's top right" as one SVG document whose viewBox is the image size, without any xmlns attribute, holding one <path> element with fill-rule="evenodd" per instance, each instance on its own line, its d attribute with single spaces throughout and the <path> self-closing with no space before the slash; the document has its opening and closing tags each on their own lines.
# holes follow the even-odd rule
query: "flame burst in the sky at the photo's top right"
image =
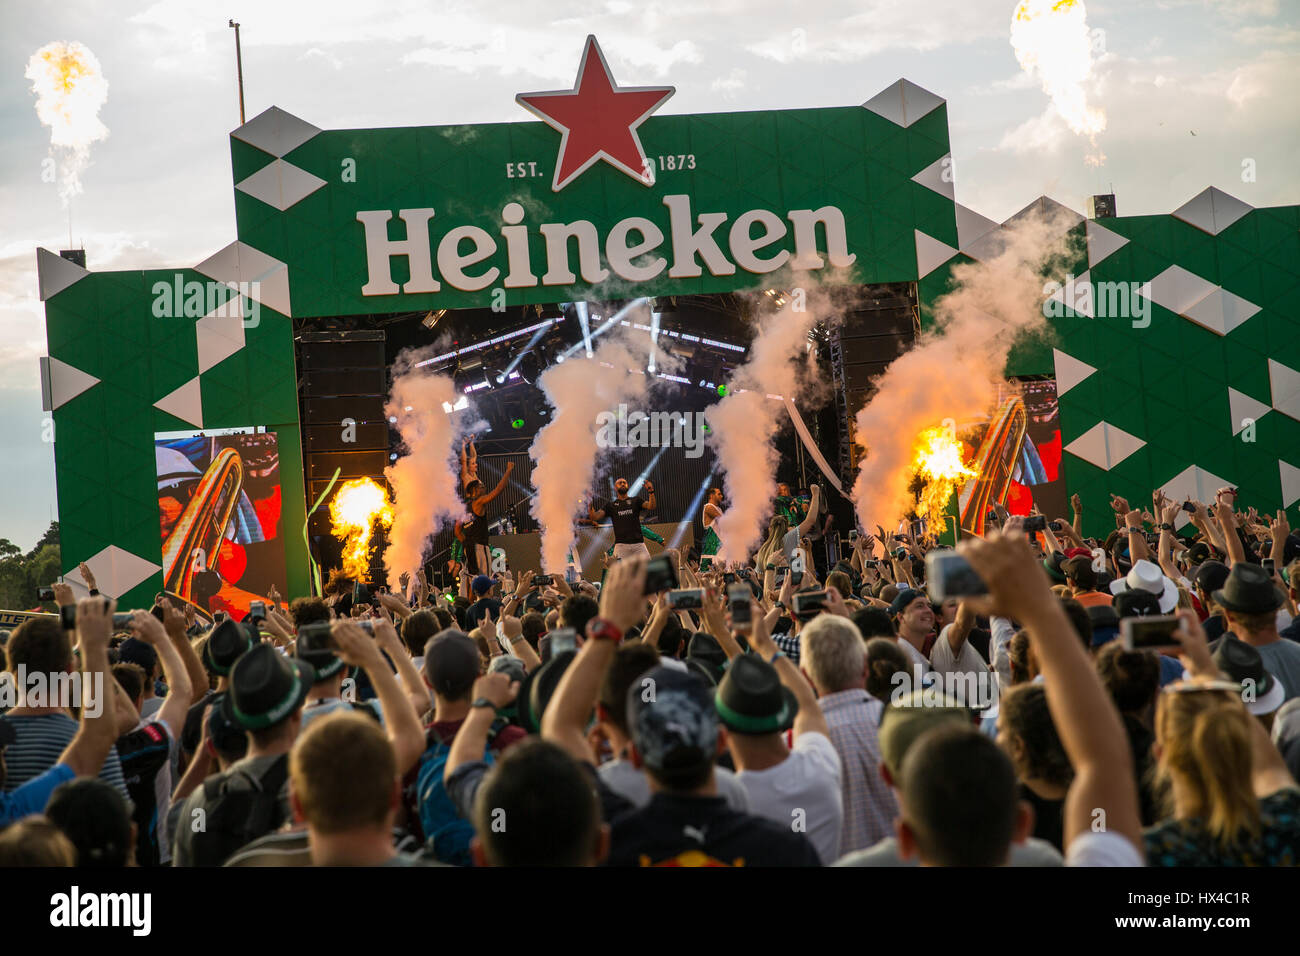
<svg viewBox="0 0 1300 956">
<path fill-rule="evenodd" d="M 1088 105 L 1084 90 L 1092 73 L 1087 17 L 1079 0 L 1020 0 L 1011 14 L 1011 47 L 1020 68 L 1037 77 L 1066 125 L 1096 147 L 1106 114 Z M 1100 150 L 1088 156 L 1093 165 L 1105 159 Z"/>
</svg>

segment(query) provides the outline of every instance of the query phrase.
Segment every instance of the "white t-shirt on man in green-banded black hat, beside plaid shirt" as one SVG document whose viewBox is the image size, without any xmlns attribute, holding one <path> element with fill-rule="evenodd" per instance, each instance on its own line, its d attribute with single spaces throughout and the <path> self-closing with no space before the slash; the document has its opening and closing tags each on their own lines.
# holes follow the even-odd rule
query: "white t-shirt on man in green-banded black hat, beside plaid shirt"
<svg viewBox="0 0 1300 956">
<path fill-rule="evenodd" d="M 806 832 L 822 865 L 835 862 L 844 827 L 840 754 L 824 734 L 801 734 L 790 756 L 767 770 L 741 770 L 749 812 Z"/>
</svg>

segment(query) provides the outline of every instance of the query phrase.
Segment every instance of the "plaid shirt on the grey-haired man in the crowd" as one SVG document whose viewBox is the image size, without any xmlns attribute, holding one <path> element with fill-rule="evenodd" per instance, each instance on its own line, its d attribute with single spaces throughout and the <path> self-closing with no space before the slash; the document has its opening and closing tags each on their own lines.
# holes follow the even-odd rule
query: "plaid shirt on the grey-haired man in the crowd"
<svg viewBox="0 0 1300 956">
<path fill-rule="evenodd" d="M 789 653 L 789 652 L 786 652 Z M 840 754 L 844 829 L 840 856 L 866 849 L 893 835 L 898 801 L 880 777 L 878 732 L 884 704 L 862 689 L 828 693 L 818 700 Z"/>
</svg>

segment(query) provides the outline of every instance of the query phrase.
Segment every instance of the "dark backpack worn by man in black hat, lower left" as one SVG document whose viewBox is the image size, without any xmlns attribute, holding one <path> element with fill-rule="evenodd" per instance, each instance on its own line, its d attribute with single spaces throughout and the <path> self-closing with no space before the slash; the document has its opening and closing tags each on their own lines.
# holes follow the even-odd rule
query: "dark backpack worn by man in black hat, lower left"
<svg viewBox="0 0 1300 956">
<path fill-rule="evenodd" d="M 280 791 L 289 779 L 289 757 L 277 760 L 260 780 L 247 770 L 203 783 L 204 829 L 194 834 L 194 866 L 221 866 L 237 849 L 285 822 Z"/>
</svg>

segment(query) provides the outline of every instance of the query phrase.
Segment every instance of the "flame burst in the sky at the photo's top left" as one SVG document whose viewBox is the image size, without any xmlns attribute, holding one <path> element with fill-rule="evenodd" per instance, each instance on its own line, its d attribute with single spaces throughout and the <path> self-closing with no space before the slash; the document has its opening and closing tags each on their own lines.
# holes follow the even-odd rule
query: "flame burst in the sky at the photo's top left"
<svg viewBox="0 0 1300 956">
<path fill-rule="evenodd" d="M 77 42 L 47 43 L 27 60 L 23 74 L 36 94 L 36 116 L 49 127 L 51 152 L 58 153 L 58 195 L 64 204 L 82 191 L 81 174 L 91 143 L 108 137 L 99 109 L 108 99 L 108 81 L 99 60 Z"/>
</svg>

